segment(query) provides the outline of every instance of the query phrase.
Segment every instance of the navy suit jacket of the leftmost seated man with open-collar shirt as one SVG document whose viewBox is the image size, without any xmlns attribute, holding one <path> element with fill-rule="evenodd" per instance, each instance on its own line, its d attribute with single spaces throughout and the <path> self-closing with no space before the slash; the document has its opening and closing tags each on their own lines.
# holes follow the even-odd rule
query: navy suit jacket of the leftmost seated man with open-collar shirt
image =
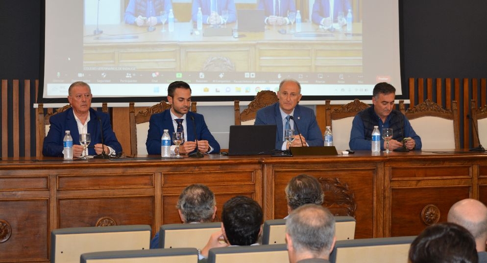
<svg viewBox="0 0 487 263">
<path fill-rule="evenodd" d="M 91 142 L 89 146 L 101 143 L 101 126 L 103 127 L 103 142 L 105 145 L 110 146 L 116 153 L 122 152 L 122 145 L 120 145 L 115 132 L 112 130 L 110 124 L 110 117 L 108 114 L 90 109 L 90 121 L 88 122 L 88 133 L 91 135 Z M 44 156 L 63 156 L 63 139 L 65 131 L 70 131 L 73 137 L 73 145 L 79 144 L 79 132 L 78 125 L 74 119 L 73 109 L 70 108 L 64 112 L 52 115 L 49 119 L 50 127 L 46 138 L 44 138 L 44 144 L 42 146 L 42 154 Z M 94 148 L 88 148 L 89 155 L 96 155 Z"/>
</svg>

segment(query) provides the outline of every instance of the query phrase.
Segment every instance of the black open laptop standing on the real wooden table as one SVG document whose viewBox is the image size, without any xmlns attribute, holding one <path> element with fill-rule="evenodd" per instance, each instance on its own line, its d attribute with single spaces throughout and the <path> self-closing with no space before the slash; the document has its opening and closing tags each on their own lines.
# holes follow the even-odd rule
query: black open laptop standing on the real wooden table
<svg viewBox="0 0 487 263">
<path fill-rule="evenodd" d="M 272 154 L 276 134 L 275 125 L 231 125 L 228 155 Z"/>
</svg>

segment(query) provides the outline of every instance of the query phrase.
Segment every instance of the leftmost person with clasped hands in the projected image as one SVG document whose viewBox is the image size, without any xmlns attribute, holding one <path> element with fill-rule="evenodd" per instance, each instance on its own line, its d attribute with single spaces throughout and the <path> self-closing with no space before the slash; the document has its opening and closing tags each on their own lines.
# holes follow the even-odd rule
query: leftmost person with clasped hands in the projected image
<svg viewBox="0 0 487 263">
<path fill-rule="evenodd" d="M 166 16 L 172 9 L 171 0 L 130 0 L 125 9 L 125 23 L 137 26 L 154 26 L 162 24 L 161 11 Z"/>
</svg>

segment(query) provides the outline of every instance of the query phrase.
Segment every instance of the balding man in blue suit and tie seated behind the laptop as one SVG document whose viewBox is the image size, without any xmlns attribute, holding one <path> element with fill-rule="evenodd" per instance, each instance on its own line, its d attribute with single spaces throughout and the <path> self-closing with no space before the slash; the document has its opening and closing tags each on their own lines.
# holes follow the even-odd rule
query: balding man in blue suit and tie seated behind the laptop
<svg viewBox="0 0 487 263">
<path fill-rule="evenodd" d="M 286 79 L 279 84 L 277 91 L 278 102 L 257 111 L 254 125 L 277 125 L 276 149 L 287 150 L 289 146 L 284 140 L 284 125 L 288 115 L 291 129 L 301 134 L 294 135 L 291 146 L 323 146 L 323 136 L 316 121 L 315 112 L 309 108 L 299 106 L 301 100 L 301 85 L 293 79 Z M 298 129 L 296 129 L 296 126 Z"/>
</svg>

